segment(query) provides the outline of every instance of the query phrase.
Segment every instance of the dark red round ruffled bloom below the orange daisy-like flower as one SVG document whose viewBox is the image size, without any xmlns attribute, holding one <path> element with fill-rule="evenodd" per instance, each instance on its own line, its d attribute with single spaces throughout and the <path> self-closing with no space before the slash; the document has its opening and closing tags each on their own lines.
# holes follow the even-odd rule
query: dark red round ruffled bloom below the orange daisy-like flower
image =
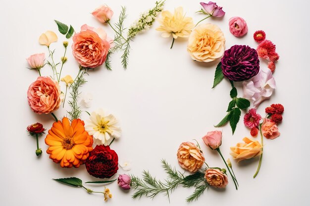
<svg viewBox="0 0 310 206">
<path fill-rule="evenodd" d="M 85 163 L 88 173 L 94 177 L 110 178 L 118 170 L 118 156 L 109 146 L 97 145 Z"/>
</svg>

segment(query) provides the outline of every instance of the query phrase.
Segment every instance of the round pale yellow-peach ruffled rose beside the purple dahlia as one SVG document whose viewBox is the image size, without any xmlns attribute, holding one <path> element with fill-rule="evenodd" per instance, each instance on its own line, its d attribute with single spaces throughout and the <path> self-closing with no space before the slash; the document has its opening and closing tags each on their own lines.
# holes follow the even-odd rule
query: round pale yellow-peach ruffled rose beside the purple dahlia
<svg viewBox="0 0 310 206">
<path fill-rule="evenodd" d="M 214 24 L 199 24 L 192 31 L 187 51 L 192 59 L 211 62 L 220 58 L 225 50 L 225 37 L 220 28 Z"/>
</svg>

